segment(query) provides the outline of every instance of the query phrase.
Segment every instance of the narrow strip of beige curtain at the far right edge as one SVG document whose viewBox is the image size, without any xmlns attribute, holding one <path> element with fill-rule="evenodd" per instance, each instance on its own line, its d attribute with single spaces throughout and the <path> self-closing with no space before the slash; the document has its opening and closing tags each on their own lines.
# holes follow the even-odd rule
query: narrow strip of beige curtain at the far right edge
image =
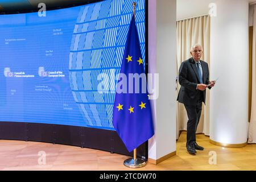
<svg viewBox="0 0 256 182">
<path fill-rule="evenodd" d="M 256 143 L 256 5 L 254 5 L 253 20 L 253 69 L 252 69 L 252 95 L 251 95 L 251 119 L 249 126 L 248 143 Z"/>
</svg>

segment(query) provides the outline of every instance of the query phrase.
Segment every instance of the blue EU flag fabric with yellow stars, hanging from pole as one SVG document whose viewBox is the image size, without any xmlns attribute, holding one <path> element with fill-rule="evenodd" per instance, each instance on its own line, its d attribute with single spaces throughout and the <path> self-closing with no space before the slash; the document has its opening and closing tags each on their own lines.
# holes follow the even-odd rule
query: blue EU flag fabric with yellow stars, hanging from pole
<svg viewBox="0 0 256 182">
<path fill-rule="evenodd" d="M 142 81 L 139 84 L 139 93 L 135 93 L 134 80 L 133 88 L 129 88 L 129 73 L 145 73 L 134 16 L 127 35 L 120 73 L 127 76 L 127 93 L 115 93 L 113 126 L 127 150 L 131 152 L 154 135 L 150 100 L 147 91 L 142 92 Z M 123 81 L 122 79 L 119 76 L 119 81 Z M 129 90 L 133 90 L 133 93 Z"/>
</svg>

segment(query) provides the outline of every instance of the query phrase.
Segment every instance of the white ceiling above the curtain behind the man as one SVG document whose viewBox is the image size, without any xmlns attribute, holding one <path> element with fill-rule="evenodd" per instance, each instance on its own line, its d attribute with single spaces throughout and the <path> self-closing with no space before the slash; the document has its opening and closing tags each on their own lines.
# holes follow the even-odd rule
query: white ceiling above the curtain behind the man
<svg viewBox="0 0 256 182">
<path fill-rule="evenodd" d="M 211 2 L 212 0 L 177 0 L 177 19 L 208 14 L 208 6 Z M 249 3 L 252 2 L 256 0 L 249 0 Z"/>
</svg>

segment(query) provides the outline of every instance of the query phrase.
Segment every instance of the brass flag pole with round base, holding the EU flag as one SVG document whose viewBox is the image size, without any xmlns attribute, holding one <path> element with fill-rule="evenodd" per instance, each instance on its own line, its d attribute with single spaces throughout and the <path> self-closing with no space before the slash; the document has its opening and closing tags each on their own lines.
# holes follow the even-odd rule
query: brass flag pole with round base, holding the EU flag
<svg viewBox="0 0 256 182">
<path fill-rule="evenodd" d="M 136 5 L 137 5 L 137 3 L 133 2 L 133 15 L 134 15 L 134 19 L 136 19 L 135 18 Z M 137 148 L 135 148 L 133 150 L 133 158 L 126 159 L 123 162 L 123 164 L 126 167 L 129 167 L 129 168 L 142 168 L 142 167 L 146 166 L 147 162 L 146 162 L 146 160 L 137 158 Z"/>
</svg>

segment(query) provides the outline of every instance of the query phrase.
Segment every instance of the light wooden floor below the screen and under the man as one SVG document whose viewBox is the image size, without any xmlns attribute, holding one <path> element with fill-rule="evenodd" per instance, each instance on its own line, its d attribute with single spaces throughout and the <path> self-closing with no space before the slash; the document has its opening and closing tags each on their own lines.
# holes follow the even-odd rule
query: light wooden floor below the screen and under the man
<svg viewBox="0 0 256 182">
<path fill-rule="evenodd" d="M 0 170 L 256 170 L 256 144 L 244 148 L 224 148 L 209 143 L 209 137 L 197 135 L 205 147 L 196 156 L 185 150 L 186 133 L 177 141 L 177 155 L 141 169 L 123 166 L 127 156 L 60 144 L 0 140 Z M 39 151 L 46 152 L 46 164 L 39 165 Z M 209 164 L 209 152 L 217 154 L 217 164 Z"/>
</svg>

